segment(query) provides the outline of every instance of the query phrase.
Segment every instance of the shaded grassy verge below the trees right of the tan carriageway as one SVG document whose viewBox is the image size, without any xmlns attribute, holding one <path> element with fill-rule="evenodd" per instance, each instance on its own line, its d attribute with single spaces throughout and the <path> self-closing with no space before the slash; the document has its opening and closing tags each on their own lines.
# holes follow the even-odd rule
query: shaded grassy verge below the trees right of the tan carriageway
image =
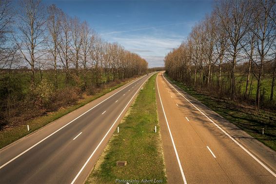
<svg viewBox="0 0 276 184">
<path fill-rule="evenodd" d="M 166 78 L 258 141 L 276 150 L 276 111 L 260 110 L 257 112 L 234 102 L 221 101 L 210 95 L 200 94 L 191 87 L 188 90 L 188 86 L 183 83 L 173 81 L 168 76 Z M 264 128 L 264 135 L 262 135 L 262 128 Z"/>
</svg>

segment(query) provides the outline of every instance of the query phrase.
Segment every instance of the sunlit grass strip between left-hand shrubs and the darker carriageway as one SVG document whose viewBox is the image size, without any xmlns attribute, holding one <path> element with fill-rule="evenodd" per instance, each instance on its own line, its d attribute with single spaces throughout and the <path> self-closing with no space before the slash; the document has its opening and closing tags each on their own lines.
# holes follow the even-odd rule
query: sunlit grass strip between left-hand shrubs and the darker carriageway
<svg viewBox="0 0 276 184">
<path fill-rule="evenodd" d="M 124 85 L 126 82 L 121 82 L 118 85 L 113 87 L 103 88 L 100 92 L 97 92 L 95 95 L 91 96 L 83 96 L 83 99 L 80 99 L 76 104 L 66 107 L 61 107 L 59 110 L 54 112 L 49 112 L 44 116 L 40 116 L 38 118 L 31 119 L 27 121 L 25 124 L 20 124 L 17 126 L 10 126 L 0 131 L 0 148 L 13 143 L 20 138 L 24 137 L 27 134 L 32 133 L 35 130 L 45 126 L 48 123 L 51 123 L 60 117 L 78 109 L 79 107 L 107 94 L 111 90 L 117 89 L 118 87 Z M 30 127 L 30 131 L 27 131 L 27 124 Z"/>
</svg>

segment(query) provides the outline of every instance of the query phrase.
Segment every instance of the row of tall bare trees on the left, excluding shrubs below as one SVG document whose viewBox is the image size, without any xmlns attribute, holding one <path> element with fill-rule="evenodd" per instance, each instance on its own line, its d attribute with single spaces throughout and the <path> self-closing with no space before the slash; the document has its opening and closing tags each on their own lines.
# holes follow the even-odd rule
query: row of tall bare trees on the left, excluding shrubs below
<svg viewBox="0 0 276 184">
<path fill-rule="evenodd" d="M 32 82 L 37 68 L 39 71 L 53 68 L 56 87 L 60 68 L 66 73 L 66 84 L 69 71 L 74 69 L 77 77 L 82 72 L 85 85 L 89 69 L 95 73 L 98 84 L 102 70 L 112 75 L 112 79 L 122 79 L 139 75 L 147 68 L 145 60 L 118 43 L 103 41 L 86 21 L 67 16 L 54 4 L 45 7 L 39 0 L 22 0 L 16 16 L 18 32 L 13 34 L 14 42 L 32 71 Z"/>
</svg>

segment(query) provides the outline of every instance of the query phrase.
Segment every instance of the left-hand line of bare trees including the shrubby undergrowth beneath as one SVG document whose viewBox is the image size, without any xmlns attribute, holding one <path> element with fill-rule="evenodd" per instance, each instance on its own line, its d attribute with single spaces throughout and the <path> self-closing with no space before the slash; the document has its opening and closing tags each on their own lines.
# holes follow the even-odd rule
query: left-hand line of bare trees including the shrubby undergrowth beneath
<svg viewBox="0 0 276 184">
<path fill-rule="evenodd" d="M 55 4 L 0 0 L 0 123 L 22 111 L 47 111 L 54 101 L 70 103 L 62 103 L 61 94 L 91 94 L 147 67 L 138 54 L 104 41 L 85 20 Z"/>
</svg>

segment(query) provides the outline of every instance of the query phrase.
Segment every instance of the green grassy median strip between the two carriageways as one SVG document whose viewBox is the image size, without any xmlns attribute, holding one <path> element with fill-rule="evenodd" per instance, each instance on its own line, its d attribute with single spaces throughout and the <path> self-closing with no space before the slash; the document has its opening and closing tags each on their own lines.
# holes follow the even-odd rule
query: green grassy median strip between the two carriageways
<svg viewBox="0 0 276 184">
<path fill-rule="evenodd" d="M 114 184 L 116 179 L 167 183 L 154 90 L 156 75 L 138 94 L 85 184 Z M 116 166 L 117 161 L 127 161 L 127 165 Z"/>
</svg>

